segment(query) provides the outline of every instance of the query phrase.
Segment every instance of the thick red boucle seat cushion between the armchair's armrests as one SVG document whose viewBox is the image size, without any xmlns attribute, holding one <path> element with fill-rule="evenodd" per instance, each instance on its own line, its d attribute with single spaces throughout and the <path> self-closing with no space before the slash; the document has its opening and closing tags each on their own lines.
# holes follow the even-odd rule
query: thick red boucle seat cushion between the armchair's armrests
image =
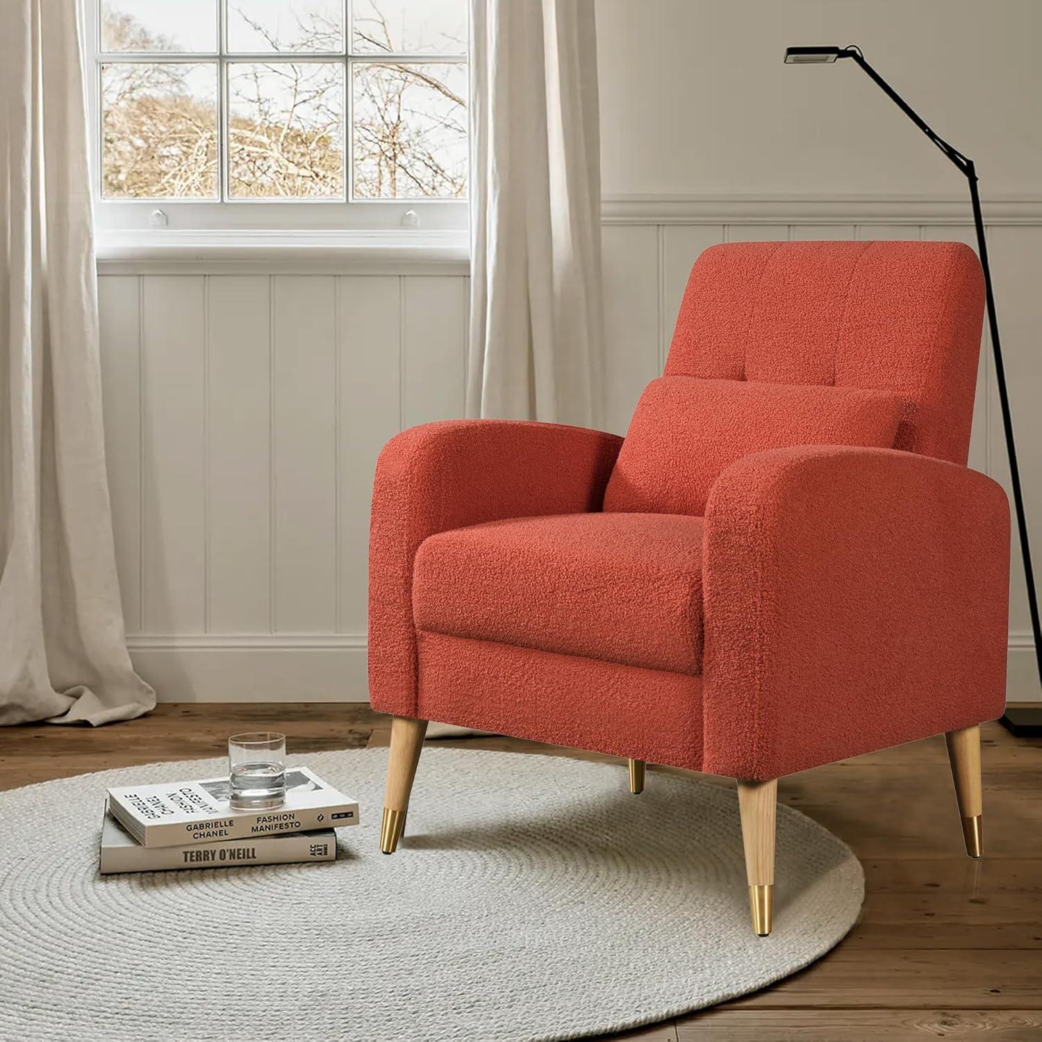
<svg viewBox="0 0 1042 1042">
<path fill-rule="evenodd" d="M 417 629 L 697 675 L 702 520 L 566 514 L 440 532 L 416 555 Z"/>
</svg>

